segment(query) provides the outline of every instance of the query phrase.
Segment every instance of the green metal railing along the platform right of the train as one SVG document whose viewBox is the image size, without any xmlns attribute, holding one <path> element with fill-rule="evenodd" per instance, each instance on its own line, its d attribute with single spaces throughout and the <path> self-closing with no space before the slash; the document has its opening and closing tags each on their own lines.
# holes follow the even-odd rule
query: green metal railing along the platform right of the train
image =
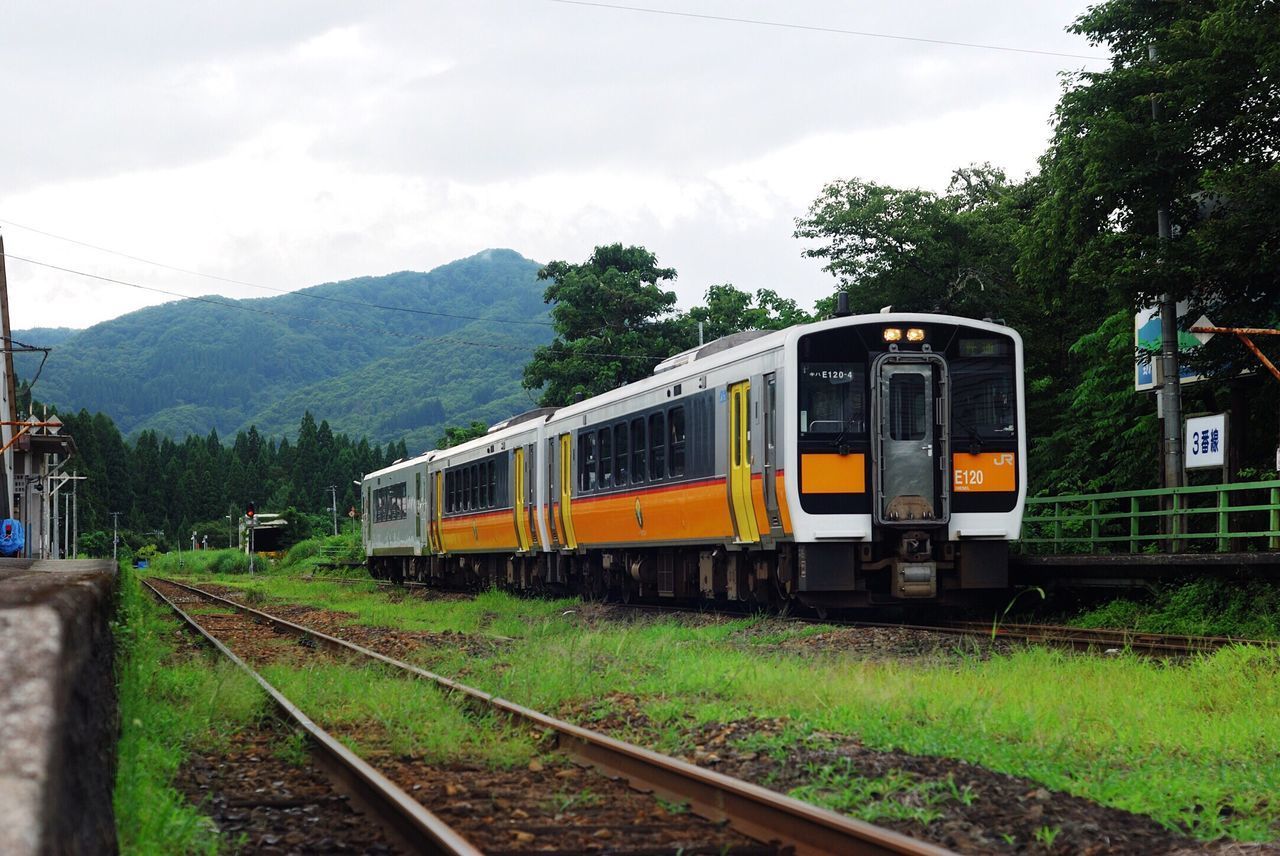
<svg viewBox="0 0 1280 856">
<path fill-rule="evenodd" d="M 1280 480 L 1034 496 L 1024 553 L 1280 550 Z"/>
</svg>

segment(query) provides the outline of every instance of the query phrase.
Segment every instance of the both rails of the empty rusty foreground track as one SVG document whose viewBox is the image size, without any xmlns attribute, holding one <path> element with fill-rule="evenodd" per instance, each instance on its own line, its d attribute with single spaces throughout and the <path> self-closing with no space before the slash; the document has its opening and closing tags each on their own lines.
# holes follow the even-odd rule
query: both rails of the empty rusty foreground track
<svg viewBox="0 0 1280 856">
<path fill-rule="evenodd" d="M 868 823 L 819 809 L 748 782 L 707 770 L 685 761 L 659 755 L 650 750 L 625 743 L 605 734 L 581 728 L 553 717 L 538 713 L 516 702 L 499 699 L 481 690 L 466 686 L 434 672 L 403 663 L 346 640 L 303 627 L 276 615 L 253 609 L 237 601 L 204 591 L 195 586 L 164 580 L 163 586 L 173 586 L 227 606 L 253 621 L 270 626 L 274 631 L 296 635 L 307 640 L 308 645 L 323 646 L 346 655 L 358 655 L 378 662 L 403 673 L 412 674 L 442 687 L 468 704 L 484 709 L 498 710 L 511 719 L 535 729 L 538 733 L 553 734 L 558 751 L 568 755 L 582 765 L 594 766 L 605 775 L 625 779 L 632 788 L 653 792 L 657 796 L 678 804 L 687 804 L 692 812 L 714 823 L 727 821 L 737 833 L 762 842 L 759 848 L 746 852 L 786 852 L 786 853 L 947 853 L 934 844 L 909 838 L 896 832 L 882 829 Z M 476 853 L 476 850 L 456 829 L 439 816 L 415 801 L 387 777 L 343 747 L 332 736 L 323 732 L 306 714 L 271 687 L 261 676 L 229 647 L 214 638 L 200 627 L 198 622 L 183 612 L 173 599 L 165 596 L 151 581 L 147 586 L 168 603 L 182 618 L 195 627 L 218 650 L 229 656 L 242 669 L 250 672 L 262 688 L 273 697 L 291 719 L 311 734 L 316 746 L 333 759 L 343 772 L 343 781 L 360 793 L 361 801 L 375 806 L 380 820 L 411 842 L 413 850 L 442 853 Z M 616 842 L 612 852 L 626 852 Z M 741 850 L 741 848 L 740 848 Z M 646 850 L 645 852 L 652 852 Z M 685 851 L 690 852 L 690 851 Z M 719 852 L 712 850 L 709 852 Z M 728 851 L 739 852 L 739 851 Z"/>
</svg>

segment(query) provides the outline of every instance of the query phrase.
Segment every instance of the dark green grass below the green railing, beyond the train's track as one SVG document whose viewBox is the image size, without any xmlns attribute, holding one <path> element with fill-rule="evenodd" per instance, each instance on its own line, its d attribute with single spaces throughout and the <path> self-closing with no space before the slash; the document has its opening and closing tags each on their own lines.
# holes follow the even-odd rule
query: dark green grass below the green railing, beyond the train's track
<svg viewBox="0 0 1280 856">
<path fill-rule="evenodd" d="M 1280 586 L 1263 581 L 1196 580 L 1165 586 L 1143 601 L 1112 600 L 1071 623 L 1149 633 L 1280 640 Z"/>
</svg>

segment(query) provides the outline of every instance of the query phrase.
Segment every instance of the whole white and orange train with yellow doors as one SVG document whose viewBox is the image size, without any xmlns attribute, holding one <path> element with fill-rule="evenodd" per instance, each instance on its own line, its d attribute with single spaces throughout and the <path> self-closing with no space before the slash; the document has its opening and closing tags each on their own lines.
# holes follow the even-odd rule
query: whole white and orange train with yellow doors
<svg viewBox="0 0 1280 856">
<path fill-rule="evenodd" d="M 1007 590 L 1025 499 L 1021 337 L 838 310 L 361 481 L 378 578 L 819 614 Z"/>
</svg>

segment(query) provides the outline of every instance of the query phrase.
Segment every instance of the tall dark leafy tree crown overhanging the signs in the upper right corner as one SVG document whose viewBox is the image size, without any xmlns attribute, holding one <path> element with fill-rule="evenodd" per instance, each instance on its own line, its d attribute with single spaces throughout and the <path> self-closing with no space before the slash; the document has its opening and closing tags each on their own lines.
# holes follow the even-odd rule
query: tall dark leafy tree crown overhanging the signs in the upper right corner
<svg viewBox="0 0 1280 856">
<path fill-rule="evenodd" d="M 1041 159 L 1047 193 L 1027 266 L 1130 307 L 1164 293 L 1190 317 L 1280 313 L 1280 14 L 1245 0 L 1111 0 L 1070 28 L 1111 49 L 1073 75 Z M 1156 49 L 1157 56 L 1148 50 Z M 1152 118 L 1152 100 L 1160 119 Z M 1166 206 L 1174 238 L 1157 237 Z"/>
</svg>

